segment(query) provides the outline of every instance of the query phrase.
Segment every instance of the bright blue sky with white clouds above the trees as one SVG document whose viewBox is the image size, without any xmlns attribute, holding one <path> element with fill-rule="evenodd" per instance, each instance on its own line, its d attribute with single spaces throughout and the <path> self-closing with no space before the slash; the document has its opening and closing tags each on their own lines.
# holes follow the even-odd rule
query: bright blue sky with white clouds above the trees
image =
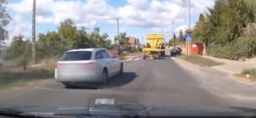
<svg viewBox="0 0 256 118">
<path fill-rule="evenodd" d="M 10 34 L 22 33 L 31 36 L 33 0 L 7 1 L 9 3 L 7 11 L 14 18 L 9 26 L 12 27 L 9 31 Z M 67 4 L 65 1 L 69 3 Z M 101 33 L 108 33 L 109 38 L 113 39 L 117 35 L 117 24 L 114 19 L 116 16 L 120 16 L 123 17 L 120 19 L 120 31 L 125 31 L 129 36 L 139 38 L 141 43 L 145 43 L 146 40 L 142 40 L 145 34 L 172 32 L 170 23 L 180 11 L 183 3 L 181 0 L 80 0 L 81 3 L 77 3 L 78 5 L 72 5 L 77 1 L 79 0 L 37 0 L 36 17 L 44 19 L 36 20 L 36 33 L 57 30 L 57 26 L 59 26 L 59 23 L 56 23 L 57 21 L 79 17 L 73 21 L 87 23 L 86 26 L 89 27 L 87 31 L 91 32 L 93 27 L 100 27 Z M 202 13 L 206 6 L 212 6 L 214 0 L 209 0 L 205 5 L 202 5 L 201 1 L 194 0 L 191 2 L 191 26 L 196 22 L 199 13 Z M 180 29 L 188 28 L 187 6 L 186 3 L 174 21 L 173 29 L 176 35 L 178 35 Z M 64 12 L 65 9 L 67 9 L 67 14 Z M 58 15 L 59 12 L 64 12 L 64 14 Z M 105 14 L 106 16 L 104 16 Z M 101 17 L 110 17 L 111 20 Z M 46 23 L 47 18 L 51 18 L 52 22 Z M 53 23 L 53 21 L 56 22 Z M 91 25 L 88 26 L 88 24 Z M 165 39 L 168 41 L 172 37 L 171 35 L 166 36 Z"/>
</svg>

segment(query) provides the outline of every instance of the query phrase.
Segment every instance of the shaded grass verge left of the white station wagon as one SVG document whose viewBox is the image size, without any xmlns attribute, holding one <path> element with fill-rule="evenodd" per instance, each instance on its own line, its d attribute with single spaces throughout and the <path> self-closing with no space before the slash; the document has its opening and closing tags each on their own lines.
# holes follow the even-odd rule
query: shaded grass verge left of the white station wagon
<svg viewBox="0 0 256 118">
<path fill-rule="evenodd" d="M 0 72 L 0 89 L 11 86 L 24 86 L 29 81 L 52 79 L 52 68 L 35 68 L 25 72 Z"/>
</svg>

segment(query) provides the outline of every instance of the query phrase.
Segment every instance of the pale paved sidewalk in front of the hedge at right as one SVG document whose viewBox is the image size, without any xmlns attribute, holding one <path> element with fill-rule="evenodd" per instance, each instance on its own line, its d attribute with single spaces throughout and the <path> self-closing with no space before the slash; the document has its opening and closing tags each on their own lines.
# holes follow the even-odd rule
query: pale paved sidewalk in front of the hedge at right
<svg viewBox="0 0 256 118">
<path fill-rule="evenodd" d="M 256 68 L 256 61 L 253 59 L 249 60 L 247 62 L 241 62 L 241 61 L 221 59 L 221 58 L 216 58 L 216 57 L 211 57 L 211 56 L 202 56 L 202 57 L 211 59 L 216 62 L 226 63 L 226 64 L 219 65 L 219 66 L 213 66 L 212 68 L 226 72 L 231 75 L 240 73 L 243 69 Z"/>
</svg>

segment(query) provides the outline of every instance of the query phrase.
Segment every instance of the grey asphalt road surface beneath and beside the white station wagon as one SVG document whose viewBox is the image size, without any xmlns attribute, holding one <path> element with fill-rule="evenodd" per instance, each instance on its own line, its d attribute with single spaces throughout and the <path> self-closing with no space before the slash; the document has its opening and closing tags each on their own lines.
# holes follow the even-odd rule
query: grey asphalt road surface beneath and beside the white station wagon
<svg viewBox="0 0 256 118">
<path fill-rule="evenodd" d="M 202 85 L 202 77 L 192 75 L 191 71 L 181 67 L 175 61 L 177 58 L 142 60 L 141 57 L 136 57 L 128 59 L 124 61 L 124 75 L 111 78 L 109 86 L 103 85 L 99 89 L 69 88 L 53 81 L 0 100 L 0 105 L 85 106 L 94 104 L 96 98 L 113 98 L 115 103 L 135 104 L 243 105 L 245 101 L 232 101 L 211 92 L 207 85 Z"/>
</svg>

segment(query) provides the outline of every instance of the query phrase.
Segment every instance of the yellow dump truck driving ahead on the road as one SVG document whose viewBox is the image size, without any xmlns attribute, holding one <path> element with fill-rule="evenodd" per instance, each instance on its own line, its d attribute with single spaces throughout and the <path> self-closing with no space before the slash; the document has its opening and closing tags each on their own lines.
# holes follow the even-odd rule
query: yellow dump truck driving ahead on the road
<svg viewBox="0 0 256 118">
<path fill-rule="evenodd" d="M 146 34 L 146 39 L 148 42 L 142 49 L 144 52 L 143 59 L 148 57 L 160 59 L 160 56 L 165 56 L 164 34 Z"/>
</svg>

